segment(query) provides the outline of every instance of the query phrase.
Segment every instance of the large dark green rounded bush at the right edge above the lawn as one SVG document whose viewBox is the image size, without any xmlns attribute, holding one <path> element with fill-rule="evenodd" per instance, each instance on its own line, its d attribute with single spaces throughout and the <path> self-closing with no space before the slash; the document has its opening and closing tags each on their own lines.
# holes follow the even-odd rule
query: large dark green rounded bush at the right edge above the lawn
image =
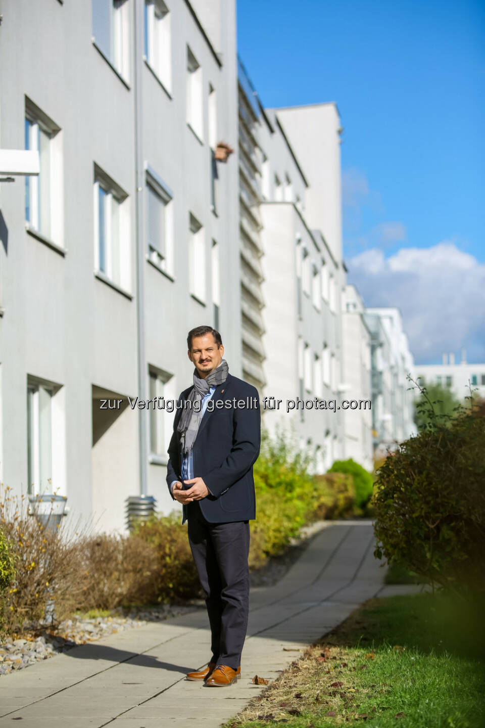
<svg viewBox="0 0 485 728">
<path fill-rule="evenodd" d="M 461 412 L 388 456 L 377 473 L 376 555 L 446 587 L 484 588 L 485 419 Z"/>
</svg>

